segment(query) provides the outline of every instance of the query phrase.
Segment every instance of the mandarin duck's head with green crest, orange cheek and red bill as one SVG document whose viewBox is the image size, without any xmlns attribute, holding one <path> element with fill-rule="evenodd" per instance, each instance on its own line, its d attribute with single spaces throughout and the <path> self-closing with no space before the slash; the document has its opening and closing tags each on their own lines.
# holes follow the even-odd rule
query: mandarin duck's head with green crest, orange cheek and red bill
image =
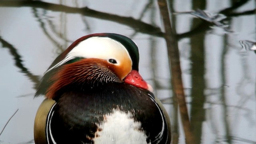
<svg viewBox="0 0 256 144">
<path fill-rule="evenodd" d="M 58 90 L 70 84 L 93 88 L 111 82 L 124 82 L 152 92 L 140 76 L 138 64 L 138 47 L 130 38 L 112 33 L 83 36 L 54 60 L 36 96 L 54 98 Z"/>
</svg>

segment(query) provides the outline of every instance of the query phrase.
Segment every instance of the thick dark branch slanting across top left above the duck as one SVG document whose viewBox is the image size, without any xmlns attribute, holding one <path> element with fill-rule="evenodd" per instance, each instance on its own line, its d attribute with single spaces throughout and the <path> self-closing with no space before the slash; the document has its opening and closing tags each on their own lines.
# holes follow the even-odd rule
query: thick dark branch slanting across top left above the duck
<svg viewBox="0 0 256 144">
<path fill-rule="evenodd" d="M 156 26 L 152 26 L 145 22 L 141 22 L 140 20 L 136 20 L 132 17 L 118 16 L 115 14 L 99 12 L 96 10 L 92 10 L 88 7 L 75 8 L 70 6 L 64 6 L 61 4 L 52 4 L 48 2 L 42 2 L 38 0 L 22 0 L 22 1 L 2 0 L 0 1 L 0 6 L 2 7 L 33 7 L 33 8 L 43 8 L 44 10 L 51 10 L 53 12 L 81 14 L 83 16 L 99 18 L 102 20 L 110 20 L 113 22 L 124 24 L 126 26 L 130 26 L 132 29 L 138 30 L 145 34 L 163 37 L 163 32 L 161 32 L 161 29 Z"/>
</svg>

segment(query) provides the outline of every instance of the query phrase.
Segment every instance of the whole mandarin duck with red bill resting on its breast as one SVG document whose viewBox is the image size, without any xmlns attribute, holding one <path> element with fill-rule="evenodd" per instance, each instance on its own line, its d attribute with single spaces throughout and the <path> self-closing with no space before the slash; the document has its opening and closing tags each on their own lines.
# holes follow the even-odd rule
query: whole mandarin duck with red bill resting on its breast
<svg viewBox="0 0 256 144">
<path fill-rule="evenodd" d="M 36 144 L 170 144 L 169 116 L 138 72 L 126 36 L 83 36 L 60 54 L 35 96 Z"/>
</svg>

